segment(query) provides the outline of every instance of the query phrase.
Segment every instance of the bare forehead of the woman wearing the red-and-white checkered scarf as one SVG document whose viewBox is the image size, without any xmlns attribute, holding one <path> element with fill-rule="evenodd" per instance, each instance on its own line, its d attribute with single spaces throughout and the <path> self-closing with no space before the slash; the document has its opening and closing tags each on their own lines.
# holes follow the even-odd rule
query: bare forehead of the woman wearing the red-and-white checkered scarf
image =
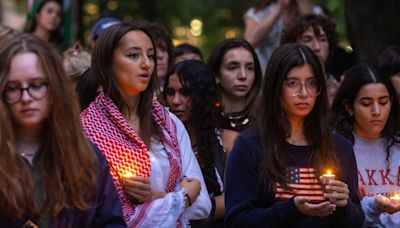
<svg viewBox="0 0 400 228">
<path fill-rule="evenodd" d="M 118 47 L 153 49 L 150 37 L 142 31 L 129 31 L 118 42 Z"/>
</svg>

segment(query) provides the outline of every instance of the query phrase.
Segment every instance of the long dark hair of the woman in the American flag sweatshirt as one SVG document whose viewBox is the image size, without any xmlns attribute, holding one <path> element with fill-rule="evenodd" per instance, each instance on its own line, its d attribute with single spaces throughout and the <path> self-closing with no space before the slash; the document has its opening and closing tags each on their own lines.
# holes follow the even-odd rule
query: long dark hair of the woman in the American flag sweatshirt
<svg viewBox="0 0 400 228">
<path fill-rule="evenodd" d="M 278 47 L 269 60 L 262 85 L 260 99 L 256 106 L 257 128 L 260 133 L 261 148 L 264 156 L 261 165 L 261 183 L 271 189 L 278 182 L 283 186 L 287 183 L 287 152 L 284 149 L 286 138 L 290 132 L 290 123 L 282 108 L 282 85 L 291 69 L 309 64 L 317 80 L 321 93 L 311 113 L 304 121 L 304 135 L 313 150 L 310 163 L 321 174 L 326 167 L 335 167 L 337 163 L 333 151 L 331 132 L 326 113 L 328 97 L 326 94 L 325 78 L 321 64 L 314 52 L 301 44 L 286 44 Z"/>
</svg>

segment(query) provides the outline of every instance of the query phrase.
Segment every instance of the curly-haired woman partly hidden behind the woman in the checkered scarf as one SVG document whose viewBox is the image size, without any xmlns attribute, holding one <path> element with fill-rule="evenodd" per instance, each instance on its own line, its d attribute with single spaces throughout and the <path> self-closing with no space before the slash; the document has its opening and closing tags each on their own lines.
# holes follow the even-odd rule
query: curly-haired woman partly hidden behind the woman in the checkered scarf
<svg viewBox="0 0 400 228">
<path fill-rule="evenodd" d="M 166 105 L 188 130 L 213 202 L 209 226 L 222 227 L 225 211 L 222 180 L 226 154 L 218 137 L 214 76 L 205 63 L 186 60 L 173 66 L 165 79 L 163 97 Z"/>
</svg>

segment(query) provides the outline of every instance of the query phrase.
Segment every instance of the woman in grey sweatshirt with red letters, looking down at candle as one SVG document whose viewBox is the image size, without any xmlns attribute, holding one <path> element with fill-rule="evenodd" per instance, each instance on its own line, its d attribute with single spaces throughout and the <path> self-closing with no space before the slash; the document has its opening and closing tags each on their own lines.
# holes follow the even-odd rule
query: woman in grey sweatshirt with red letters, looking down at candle
<svg viewBox="0 0 400 228">
<path fill-rule="evenodd" d="M 399 108 L 388 75 L 354 66 L 332 105 L 332 126 L 354 144 L 366 227 L 399 227 Z"/>
</svg>

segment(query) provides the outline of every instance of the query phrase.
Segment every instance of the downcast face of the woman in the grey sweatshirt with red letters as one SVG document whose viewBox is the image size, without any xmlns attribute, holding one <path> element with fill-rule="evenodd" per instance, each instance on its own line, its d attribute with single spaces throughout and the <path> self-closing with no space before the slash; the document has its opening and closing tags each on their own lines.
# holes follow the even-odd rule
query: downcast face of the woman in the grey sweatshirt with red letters
<svg viewBox="0 0 400 228">
<path fill-rule="evenodd" d="M 389 118 L 392 102 L 386 86 L 382 83 L 370 83 L 361 87 L 354 100 L 353 130 L 356 134 L 368 138 L 380 138 Z"/>
</svg>

